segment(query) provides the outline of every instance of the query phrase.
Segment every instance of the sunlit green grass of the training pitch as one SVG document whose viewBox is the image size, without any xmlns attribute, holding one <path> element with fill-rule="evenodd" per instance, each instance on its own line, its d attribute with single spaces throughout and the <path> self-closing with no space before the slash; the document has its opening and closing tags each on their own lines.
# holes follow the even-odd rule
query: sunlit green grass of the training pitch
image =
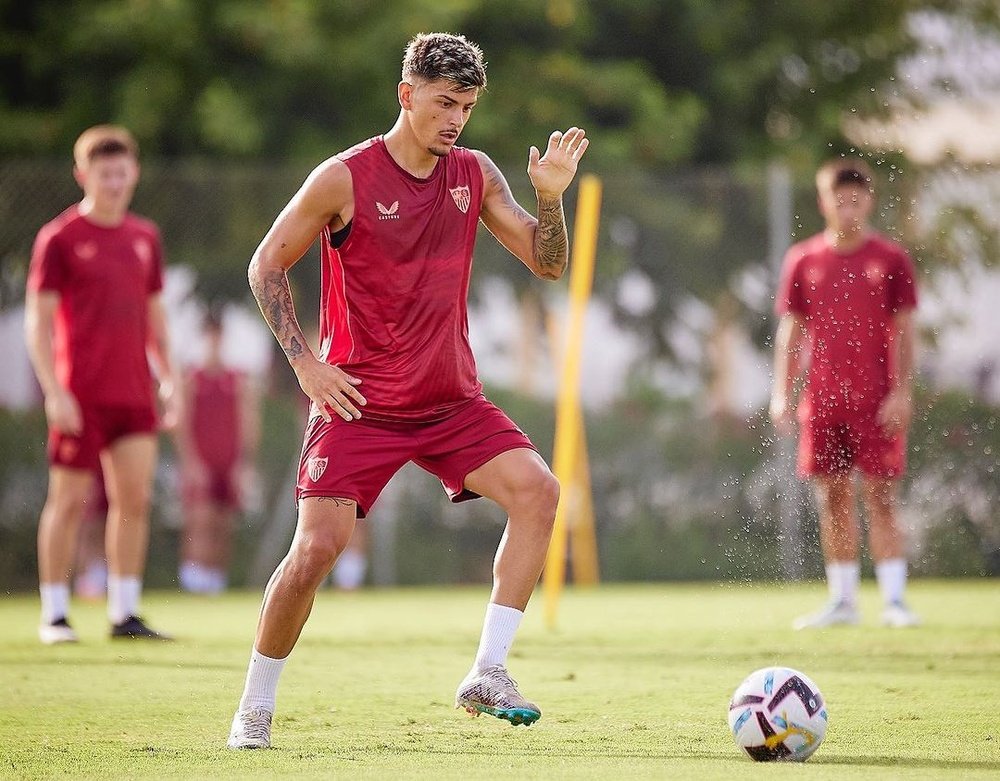
<svg viewBox="0 0 1000 781">
<path fill-rule="evenodd" d="M 79 645 L 35 638 L 36 599 L 0 600 L 0 778 L 997 778 L 1000 588 L 924 581 L 923 627 L 788 629 L 823 599 L 801 586 L 570 590 L 557 630 L 541 594 L 510 660 L 542 720 L 453 709 L 486 587 L 323 592 L 278 692 L 271 751 L 225 747 L 259 595 L 146 597 L 173 644 L 112 643 L 80 605 Z M 758 667 L 801 669 L 830 711 L 804 766 L 756 765 L 726 706 Z"/>
</svg>

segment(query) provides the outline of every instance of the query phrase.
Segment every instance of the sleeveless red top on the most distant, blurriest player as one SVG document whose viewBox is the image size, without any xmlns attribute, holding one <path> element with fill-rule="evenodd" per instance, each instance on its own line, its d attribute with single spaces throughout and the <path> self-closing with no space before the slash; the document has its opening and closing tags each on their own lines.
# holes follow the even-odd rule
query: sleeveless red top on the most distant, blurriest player
<svg viewBox="0 0 1000 781">
<path fill-rule="evenodd" d="M 232 369 L 195 369 L 191 391 L 191 437 L 208 466 L 229 469 L 239 459 L 240 373 Z"/>
</svg>

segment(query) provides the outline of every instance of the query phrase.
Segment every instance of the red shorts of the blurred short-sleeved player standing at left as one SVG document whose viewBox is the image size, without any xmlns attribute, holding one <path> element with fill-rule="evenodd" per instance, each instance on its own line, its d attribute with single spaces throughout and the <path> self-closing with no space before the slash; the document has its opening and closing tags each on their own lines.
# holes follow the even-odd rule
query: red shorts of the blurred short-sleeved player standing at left
<svg viewBox="0 0 1000 781">
<path fill-rule="evenodd" d="M 155 434 L 156 410 L 149 407 L 80 405 L 83 430 L 79 436 L 49 429 L 48 455 L 53 466 L 93 469 L 101 465 L 101 451 L 131 434 Z"/>
</svg>

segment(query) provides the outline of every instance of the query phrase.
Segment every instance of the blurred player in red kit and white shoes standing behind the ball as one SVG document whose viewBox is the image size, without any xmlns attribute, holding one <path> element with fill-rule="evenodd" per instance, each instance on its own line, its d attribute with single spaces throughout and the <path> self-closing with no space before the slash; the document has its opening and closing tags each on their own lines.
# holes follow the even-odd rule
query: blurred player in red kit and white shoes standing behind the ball
<svg viewBox="0 0 1000 781">
<path fill-rule="evenodd" d="M 918 618 L 903 600 L 907 565 L 896 519 L 913 414 L 913 264 L 901 246 L 869 227 L 875 190 L 863 161 L 828 162 L 816 174 L 816 188 L 826 228 L 785 256 L 770 404 L 778 431 L 790 433 L 793 386 L 804 373 L 798 472 L 815 484 L 830 601 L 795 626 L 859 621 L 856 483 L 884 600 L 882 622 L 913 626 Z"/>
</svg>

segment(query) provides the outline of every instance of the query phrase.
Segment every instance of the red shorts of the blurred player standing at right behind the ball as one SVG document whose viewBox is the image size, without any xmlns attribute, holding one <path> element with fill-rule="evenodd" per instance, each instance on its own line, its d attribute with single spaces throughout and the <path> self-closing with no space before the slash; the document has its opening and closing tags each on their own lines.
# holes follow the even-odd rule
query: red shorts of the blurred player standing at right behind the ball
<svg viewBox="0 0 1000 781">
<path fill-rule="evenodd" d="M 811 416 L 800 421 L 800 477 L 857 468 L 871 477 L 899 477 L 906 469 L 906 437 L 886 436 L 874 415 L 852 421 Z"/>
</svg>

